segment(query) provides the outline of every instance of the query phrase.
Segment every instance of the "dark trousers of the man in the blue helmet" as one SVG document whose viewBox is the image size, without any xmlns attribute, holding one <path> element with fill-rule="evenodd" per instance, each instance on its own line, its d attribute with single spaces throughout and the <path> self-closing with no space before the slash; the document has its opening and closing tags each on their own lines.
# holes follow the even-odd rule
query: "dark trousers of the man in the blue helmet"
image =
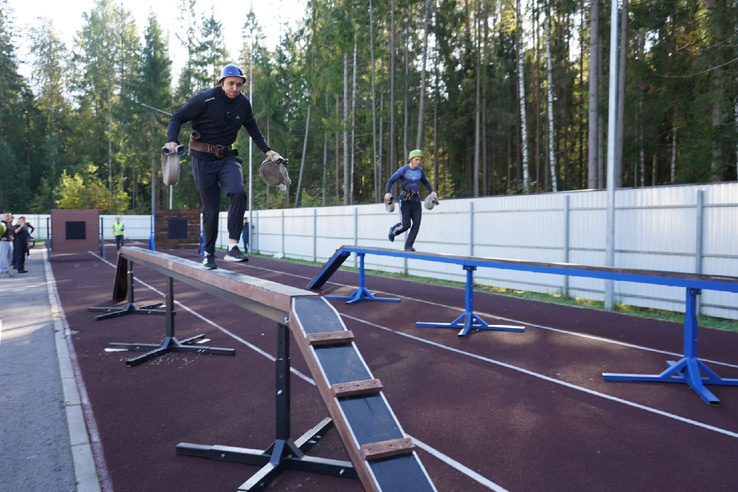
<svg viewBox="0 0 738 492">
<path fill-rule="evenodd" d="M 243 187 L 243 170 L 239 157 L 227 156 L 215 161 L 205 161 L 192 156 L 192 176 L 200 196 L 202 210 L 202 234 L 205 253 L 215 253 L 218 236 L 220 192 L 228 197 L 228 238 L 238 242 L 243 230 L 243 214 L 246 212 L 246 191 Z"/>
</svg>

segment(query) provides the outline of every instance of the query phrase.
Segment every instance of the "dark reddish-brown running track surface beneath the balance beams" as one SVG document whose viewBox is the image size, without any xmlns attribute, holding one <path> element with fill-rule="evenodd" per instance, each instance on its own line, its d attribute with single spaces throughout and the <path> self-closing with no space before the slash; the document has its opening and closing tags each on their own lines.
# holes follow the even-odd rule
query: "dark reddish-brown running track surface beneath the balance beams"
<svg viewBox="0 0 738 492">
<path fill-rule="evenodd" d="M 107 258 L 115 258 L 108 247 Z M 167 251 L 199 261 L 193 251 Z M 222 254 L 219 254 L 222 257 Z M 169 354 L 126 368 L 138 353 L 110 342 L 159 343 L 162 316 L 95 321 L 109 306 L 114 264 L 94 253 L 52 255 L 73 333 L 88 428 L 106 491 L 235 491 L 256 467 L 177 456 L 180 442 L 263 449 L 274 440 L 276 330 L 266 320 L 175 282 L 176 336 L 236 356 Z M 252 258 L 221 268 L 305 288 L 318 267 Z M 162 275 L 134 268 L 136 302 L 163 300 Z M 323 289 L 349 295 L 358 275 L 339 270 Z M 658 373 L 682 353 L 680 324 L 475 293 L 487 322 L 524 333 L 416 328 L 463 312 L 463 289 L 367 276 L 367 288 L 402 302 L 332 304 L 439 491 L 738 490 L 738 388 L 711 386 L 710 408 L 682 384 L 617 383 L 603 372 Z M 292 431 L 327 416 L 293 344 Z M 738 334 L 702 328 L 701 359 L 738 377 Z M 676 358 L 676 359 L 675 359 Z M 348 459 L 335 431 L 312 455 Z M 351 492 L 356 480 L 286 472 L 269 490 Z"/>
</svg>

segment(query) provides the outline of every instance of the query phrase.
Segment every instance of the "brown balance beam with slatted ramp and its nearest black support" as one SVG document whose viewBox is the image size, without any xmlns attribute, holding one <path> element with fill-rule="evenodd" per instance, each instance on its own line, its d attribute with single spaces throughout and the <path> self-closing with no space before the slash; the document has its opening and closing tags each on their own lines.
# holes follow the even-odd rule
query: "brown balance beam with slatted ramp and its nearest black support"
<svg viewBox="0 0 738 492">
<path fill-rule="evenodd" d="M 286 469 L 359 478 L 370 492 L 436 490 L 382 393 L 382 383 L 361 357 L 353 333 L 324 298 L 237 272 L 205 270 L 199 263 L 138 247 L 121 248 L 120 258 L 277 322 L 274 443 L 266 450 L 180 443 L 177 454 L 262 466 L 239 491 L 264 490 Z M 290 429 L 290 332 L 331 416 L 297 440 Z M 306 456 L 334 425 L 351 462 Z"/>
</svg>

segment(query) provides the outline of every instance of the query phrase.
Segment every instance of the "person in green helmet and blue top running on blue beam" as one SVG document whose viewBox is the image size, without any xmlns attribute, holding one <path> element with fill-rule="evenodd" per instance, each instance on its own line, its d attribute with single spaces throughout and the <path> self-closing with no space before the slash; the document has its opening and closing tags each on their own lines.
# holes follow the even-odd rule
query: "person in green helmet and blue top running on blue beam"
<svg viewBox="0 0 738 492">
<path fill-rule="evenodd" d="M 433 191 L 428 178 L 425 177 L 425 171 L 420 167 L 421 162 L 423 162 L 423 153 L 417 149 L 413 150 L 410 152 L 408 160 L 410 161 L 408 164 L 398 169 L 387 180 L 384 200 L 387 201 L 392 196 L 390 194 L 392 185 L 395 184 L 395 181 L 400 180 L 400 215 L 402 216 L 402 222 L 390 227 L 387 238 L 394 242 L 395 236 L 410 229 L 405 240 L 405 251 L 415 251 L 413 244 L 415 244 L 415 238 L 418 236 L 420 219 L 423 215 L 418 184 L 423 183 L 434 199 L 437 199 L 438 195 Z"/>
</svg>

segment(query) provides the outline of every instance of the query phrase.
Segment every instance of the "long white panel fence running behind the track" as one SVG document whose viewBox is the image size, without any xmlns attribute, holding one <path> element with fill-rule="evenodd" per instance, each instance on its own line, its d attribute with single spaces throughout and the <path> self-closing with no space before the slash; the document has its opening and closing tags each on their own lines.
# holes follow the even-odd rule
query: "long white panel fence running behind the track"
<svg viewBox="0 0 738 492">
<path fill-rule="evenodd" d="M 441 197 L 443 198 L 443 197 Z M 738 183 L 622 189 L 615 194 L 615 266 L 738 276 Z M 254 211 L 252 249 L 325 262 L 343 245 L 402 249 L 387 240 L 399 214 L 384 205 Z M 18 215 L 16 215 L 17 217 Z M 43 238 L 45 217 L 27 215 Z M 32 219 L 35 218 L 35 219 Z M 102 216 L 112 239 L 115 216 Z M 126 237 L 150 237 L 149 216 L 122 216 Z M 605 264 L 606 192 L 580 191 L 442 200 L 424 210 L 418 251 L 543 262 Z M 33 222 L 35 220 L 35 222 Z M 40 228 L 37 224 L 43 224 Z M 226 213 L 217 245 L 228 243 Z M 357 266 L 356 259 L 353 260 Z M 445 263 L 367 255 L 367 269 L 465 281 L 462 268 Z M 479 269 L 477 284 L 604 300 L 604 280 Z M 615 302 L 684 311 L 683 288 L 615 282 Z M 701 313 L 738 319 L 738 296 L 703 291 Z"/>
</svg>

